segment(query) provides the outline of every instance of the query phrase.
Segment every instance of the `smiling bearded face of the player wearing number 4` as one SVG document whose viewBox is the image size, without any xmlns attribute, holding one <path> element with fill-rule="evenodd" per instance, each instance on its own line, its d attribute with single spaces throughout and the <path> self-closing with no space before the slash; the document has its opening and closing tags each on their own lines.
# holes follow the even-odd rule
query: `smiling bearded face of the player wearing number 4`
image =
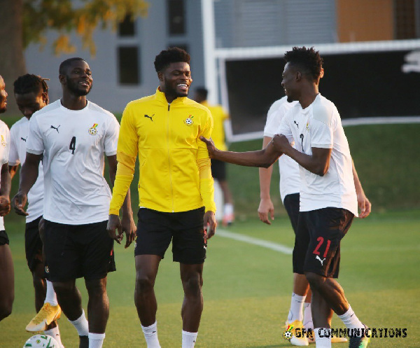
<svg viewBox="0 0 420 348">
<path fill-rule="evenodd" d="M 72 95 L 87 95 L 93 83 L 89 64 L 84 60 L 74 60 L 66 69 L 66 74 L 60 75 L 60 82 Z"/>
</svg>

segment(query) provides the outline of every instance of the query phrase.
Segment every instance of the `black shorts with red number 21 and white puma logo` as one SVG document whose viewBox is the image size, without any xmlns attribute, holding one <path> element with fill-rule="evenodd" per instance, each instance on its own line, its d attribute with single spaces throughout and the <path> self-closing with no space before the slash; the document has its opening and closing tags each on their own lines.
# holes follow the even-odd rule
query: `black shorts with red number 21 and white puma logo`
<svg viewBox="0 0 420 348">
<path fill-rule="evenodd" d="M 293 249 L 293 272 L 314 272 L 323 277 L 337 278 L 339 244 L 353 218 L 353 213 L 342 208 L 300 211 Z"/>
</svg>

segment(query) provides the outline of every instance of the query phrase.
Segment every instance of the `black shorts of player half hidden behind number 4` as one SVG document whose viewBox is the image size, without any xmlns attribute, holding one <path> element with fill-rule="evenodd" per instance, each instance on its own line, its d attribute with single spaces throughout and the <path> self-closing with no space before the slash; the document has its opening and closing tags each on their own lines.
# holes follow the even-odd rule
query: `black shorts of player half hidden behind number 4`
<svg viewBox="0 0 420 348">
<path fill-rule="evenodd" d="M 39 221 L 42 216 L 39 216 L 34 221 L 25 225 L 25 253 L 29 270 L 34 272 L 38 263 L 43 263 L 42 258 L 42 241 L 39 237 Z"/>
</svg>

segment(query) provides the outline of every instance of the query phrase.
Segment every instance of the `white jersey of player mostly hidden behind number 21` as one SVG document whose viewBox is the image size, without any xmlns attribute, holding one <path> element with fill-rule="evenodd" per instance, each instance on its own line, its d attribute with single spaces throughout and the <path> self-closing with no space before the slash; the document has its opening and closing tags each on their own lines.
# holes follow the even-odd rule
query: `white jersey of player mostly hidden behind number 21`
<svg viewBox="0 0 420 348">
<path fill-rule="evenodd" d="M 283 97 L 270 106 L 267 113 L 267 122 L 264 127 L 264 137 L 274 137 L 279 130 L 281 120 L 288 110 L 295 106 L 297 102 L 287 102 L 287 97 Z M 293 147 L 295 145 L 293 144 Z M 300 189 L 300 173 L 299 165 L 295 160 L 292 160 L 288 155 L 281 155 L 279 158 L 280 170 L 280 196 L 281 201 L 284 202 L 286 195 L 299 193 Z"/>
</svg>

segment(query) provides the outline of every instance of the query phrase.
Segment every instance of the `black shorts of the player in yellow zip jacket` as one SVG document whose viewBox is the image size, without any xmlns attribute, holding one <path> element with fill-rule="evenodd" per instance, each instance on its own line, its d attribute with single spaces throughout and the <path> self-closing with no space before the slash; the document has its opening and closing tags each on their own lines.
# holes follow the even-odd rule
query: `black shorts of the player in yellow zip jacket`
<svg viewBox="0 0 420 348">
<path fill-rule="evenodd" d="M 207 238 L 203 228 L 204 207 L 180 213 L 139 209 L 134 255 L 164 258 L 172 240 L 173 260 L 188 265 L 204 263 Z"/>
</svg>

